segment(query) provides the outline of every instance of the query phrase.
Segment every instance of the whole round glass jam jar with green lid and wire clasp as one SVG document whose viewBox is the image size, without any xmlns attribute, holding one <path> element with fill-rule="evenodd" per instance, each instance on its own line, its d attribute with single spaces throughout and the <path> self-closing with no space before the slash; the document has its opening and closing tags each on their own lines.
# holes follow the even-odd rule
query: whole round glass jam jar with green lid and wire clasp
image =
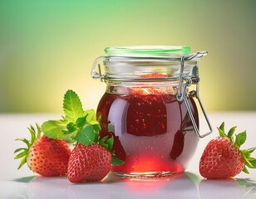
<svg viewBox="0 0 256 199">
<path fill-rule="evenodd" d="M 96 111 L 101 137 L 114 136 L 116 157 L 125 162 L 111 171 L 130 177 L 184 172 L 199 138 L 211 133 L 198 95 L 198 61 L 207 52 L 189 54 L 189 46 L 107 47 L 105 52 L 91 75 L 106 83 Z M 104 67 L 96 70 L 101 60 Z M 199 133 L 194 99 L 209 133 Z"/>
</svg>

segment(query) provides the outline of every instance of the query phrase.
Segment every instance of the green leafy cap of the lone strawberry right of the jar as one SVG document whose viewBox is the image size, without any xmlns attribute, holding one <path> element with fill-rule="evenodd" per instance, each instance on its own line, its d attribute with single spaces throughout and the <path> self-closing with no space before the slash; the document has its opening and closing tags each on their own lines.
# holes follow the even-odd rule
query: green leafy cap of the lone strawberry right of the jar
<svg viewBox="0 0 256 199">
<path fill-rule="evenodd" d="M 229 129 L 228 134 L 224 133 L 224 122 L 223 122 L 218 128 L 219 136 L 228 138 L 230 140 L 230 142 L 232 142 L 234 144 L 234 146 L 236 148 L 239 148 L 239 150 L 240 150 L 240 147 L 246 141 L 247 135 L 246 135 L 246 131 L 243 131 L 242 133 L 234 134 L 235 129 L 236 129 L 236 126 Z M 244 159 L 243 172 L 245 172 L 245 173 L 249 173 L 247 167 L 256 168 L 256 158 L 251 157 L 251 153 L 253 153 L 255 149 L 256 148 L 248 148 L 248 149 L 240 150 L 240 152 L 242 153 L 242 157 Z"/>
</svg>

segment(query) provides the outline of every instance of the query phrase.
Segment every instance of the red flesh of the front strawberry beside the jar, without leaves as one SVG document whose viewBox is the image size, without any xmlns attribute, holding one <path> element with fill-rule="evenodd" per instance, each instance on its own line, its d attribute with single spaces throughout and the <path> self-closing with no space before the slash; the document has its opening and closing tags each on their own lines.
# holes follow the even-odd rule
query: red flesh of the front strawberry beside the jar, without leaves
<svg viewBox="0 0 256 199">
<path fill-rule="evenodd" d="M 97 143 L 78 143 L 72 150 L 67 177 L 70 182 L 101 181 L 111 170 L 111 153 Z"/>
</svg>

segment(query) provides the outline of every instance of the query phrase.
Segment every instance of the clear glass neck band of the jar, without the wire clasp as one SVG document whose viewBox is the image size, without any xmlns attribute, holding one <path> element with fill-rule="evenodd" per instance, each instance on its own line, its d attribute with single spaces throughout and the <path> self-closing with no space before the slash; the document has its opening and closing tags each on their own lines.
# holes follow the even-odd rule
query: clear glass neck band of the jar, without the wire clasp
<svg viewBox="0 0 256 199">
<path fill-rule="evenodd" d="M 114 59 L 104 61 L 104 80 L 110 81 L 175 81 L 180 77 L 180 61 L 146 60 L 146 59 Z M 185 61 L 182 75 L 185 77 L 199 77 L 197 61 Z M 154 75 L 157 74 L 157 75 Z"/>
</svg>

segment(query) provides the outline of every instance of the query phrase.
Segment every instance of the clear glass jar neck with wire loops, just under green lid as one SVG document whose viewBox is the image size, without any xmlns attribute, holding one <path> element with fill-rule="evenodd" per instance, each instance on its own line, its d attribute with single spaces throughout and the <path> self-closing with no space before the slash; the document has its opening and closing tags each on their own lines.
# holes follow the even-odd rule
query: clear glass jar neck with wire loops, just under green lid
<svg viewBox="0 0 256 199">
<path fill-rule="evenodd" d="M 94 61 L 91 77 L 101 80 L 140 80 L 141 75 L 158 73 L 166 80 L 199 77 L 198 61 L 207 51 L 180 56 L 99 56 Z M 105 67 L 101 67 L 103 61 Z M 98 70 L 96 70 L 98 66 Z M 180 78 L 181 77 L 181 78 Z"/>
</svg>

